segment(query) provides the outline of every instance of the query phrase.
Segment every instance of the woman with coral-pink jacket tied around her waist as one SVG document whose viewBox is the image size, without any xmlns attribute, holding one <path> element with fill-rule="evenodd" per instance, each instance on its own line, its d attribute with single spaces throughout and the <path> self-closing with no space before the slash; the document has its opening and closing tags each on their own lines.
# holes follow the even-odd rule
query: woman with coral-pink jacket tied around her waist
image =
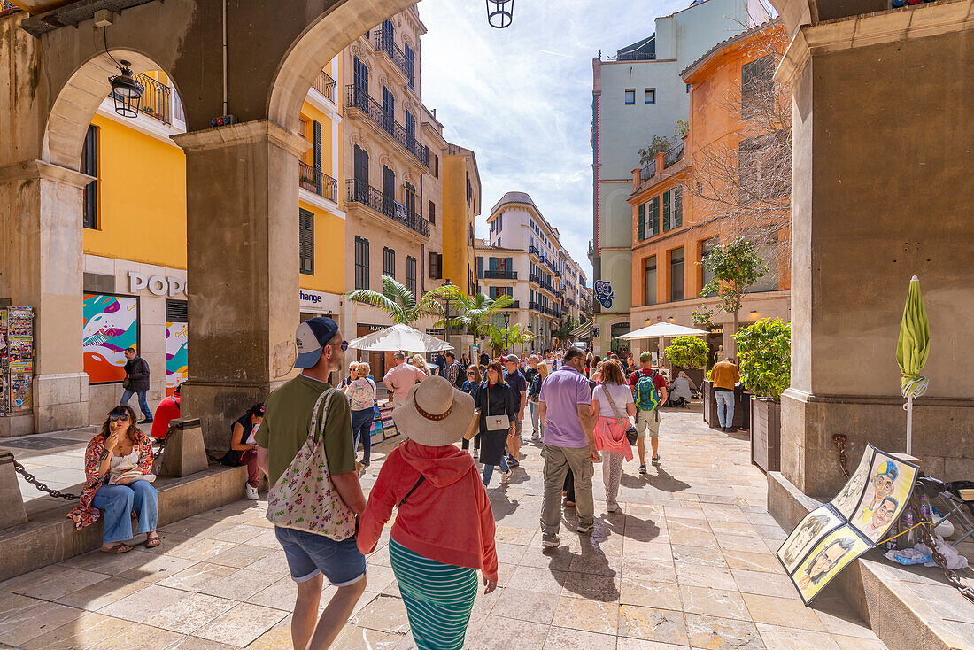
<svg viewBox="0 0 974 650">
<path fill-rule="evenodd" d="M 632 460 L 632 447 L 625 437 L 629 417 L 636 414 L 632 391 L 625 382 L 622 364 L 616 360 L 602 363 L 602 383 L 592 393 L 595 422 L 595 444 L 602 452 L 602 481 L 606 487 L 606 510 L 618 511 L 618 484 L 622 479 L 622 461 Z"/>
</svg>

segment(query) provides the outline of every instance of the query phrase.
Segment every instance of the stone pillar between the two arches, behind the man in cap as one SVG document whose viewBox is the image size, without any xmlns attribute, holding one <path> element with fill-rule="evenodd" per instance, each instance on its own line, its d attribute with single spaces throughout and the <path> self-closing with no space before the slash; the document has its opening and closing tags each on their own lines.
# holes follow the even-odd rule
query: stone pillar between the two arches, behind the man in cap
<svg viewBox="0 0 974 650">
<path fill-rule="evenodd" d="M 254 121 L 173 136 L 186 152 L 189 380 L 184 417 L 206 448 L 292 374 L 298 325 L 298 156 L 308 143 Z M 345 242 L 335 242 L 345 246 Z"/>
</svg>

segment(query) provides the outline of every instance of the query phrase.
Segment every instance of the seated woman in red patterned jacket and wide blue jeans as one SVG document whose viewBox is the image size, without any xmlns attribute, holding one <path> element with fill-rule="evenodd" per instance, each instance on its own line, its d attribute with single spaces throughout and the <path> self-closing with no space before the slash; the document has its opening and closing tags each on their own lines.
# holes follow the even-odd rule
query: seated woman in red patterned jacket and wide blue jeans
<svg viewBox="0 0 974 650">
<path fill-rule="evenodd" d="M 159 492 L 152 486 L 152 440 L 135 426 L 135 411 L 116 406 L 85 449 L 85 488 L 69 516 L 75 528 L 92 525 L 105 511 L 101 552 L 131 551 L 131 513 L 138 517 L 136 534 L 145 533 L 148 549 L 160 545 L 156 532 Z"/>
</svg>

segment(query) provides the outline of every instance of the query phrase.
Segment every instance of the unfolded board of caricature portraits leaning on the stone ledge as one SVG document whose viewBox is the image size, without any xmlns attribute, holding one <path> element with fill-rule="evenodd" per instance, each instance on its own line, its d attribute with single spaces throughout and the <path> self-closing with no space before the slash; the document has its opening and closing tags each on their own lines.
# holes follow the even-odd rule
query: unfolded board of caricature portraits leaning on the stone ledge
<svg viewBox="0 0 974 650">
<path fill-rule="evenodd" d="M 805 604 L 879 544 L 910 500 L 917 473 L 913 463 L 867 445 L 839 494 L 799 522 L 777 557 Z"/>
</svg>

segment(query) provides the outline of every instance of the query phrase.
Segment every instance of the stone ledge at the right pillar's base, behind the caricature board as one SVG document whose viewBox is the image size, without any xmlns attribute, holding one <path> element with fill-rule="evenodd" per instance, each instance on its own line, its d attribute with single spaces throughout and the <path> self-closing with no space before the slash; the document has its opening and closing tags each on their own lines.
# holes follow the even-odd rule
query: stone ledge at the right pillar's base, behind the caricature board
<svg viewBox="0 0 974 650">
<path fill-rule="evenodd" d="M 785 530 L 821 505 L 779 472 L 768 473 L 768 513 Z M 892 564 L 874 550 L 822 592 L 830 594 L 841 594 L 890 650 L 974 650 L 974 604 L 940 568 Z"/>
</svg>

